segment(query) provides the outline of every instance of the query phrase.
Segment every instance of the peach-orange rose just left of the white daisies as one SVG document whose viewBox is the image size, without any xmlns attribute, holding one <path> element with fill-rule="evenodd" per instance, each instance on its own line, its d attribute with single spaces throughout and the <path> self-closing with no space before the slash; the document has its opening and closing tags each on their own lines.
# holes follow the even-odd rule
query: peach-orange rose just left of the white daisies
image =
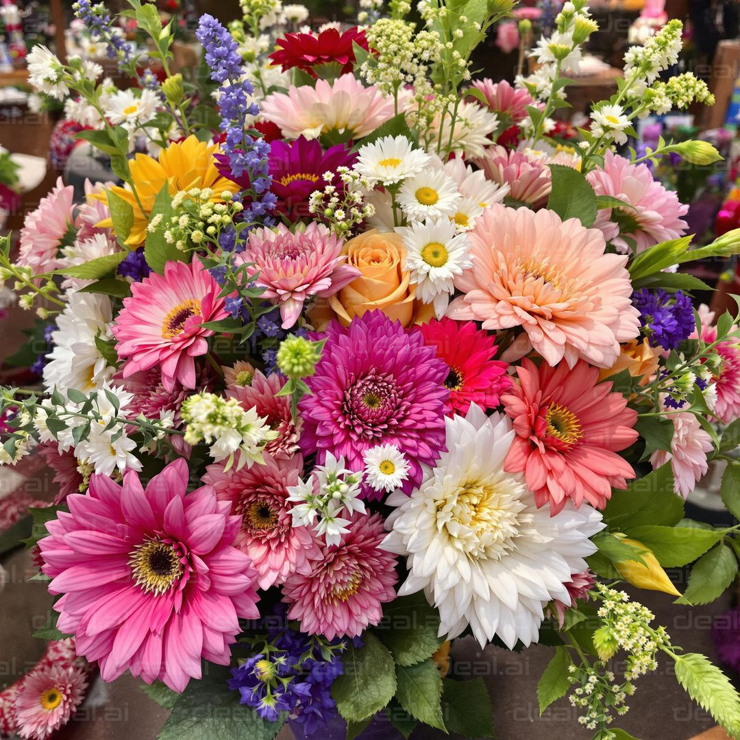
<svg viewBox="0 0 740 740">
<path fill-rule="evenodd" d="M 403 269 L 406 248 L 398 234 L 382 234 L 377 229 L 360 234 L 345 243 L 342 253 L 347 264 L 360 270 L 348 286 L 320 301 L 310 318 L 318 331 L 336 317 L 348 326 L 355 316 L 379 310 L 403 326 L 428 320 L 434 312 L 431 305 L 416 300 L 416 285 L 410 285 L 411 273 Z"/>
</svg>

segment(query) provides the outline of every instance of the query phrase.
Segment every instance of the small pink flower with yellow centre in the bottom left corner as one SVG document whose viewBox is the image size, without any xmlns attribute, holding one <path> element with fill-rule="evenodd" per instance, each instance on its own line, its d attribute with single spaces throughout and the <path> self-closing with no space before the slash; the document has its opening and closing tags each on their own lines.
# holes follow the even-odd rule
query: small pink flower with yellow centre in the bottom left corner
<svg viewBox="0 0 740 740">
<path fill-rule="evenodd" d="M 30 671 L 16 696 L 16 730 L 21 738 L 44 740 L 67 724 L 84 699 L 84 670 L 50 665 Z"/>
</svg>

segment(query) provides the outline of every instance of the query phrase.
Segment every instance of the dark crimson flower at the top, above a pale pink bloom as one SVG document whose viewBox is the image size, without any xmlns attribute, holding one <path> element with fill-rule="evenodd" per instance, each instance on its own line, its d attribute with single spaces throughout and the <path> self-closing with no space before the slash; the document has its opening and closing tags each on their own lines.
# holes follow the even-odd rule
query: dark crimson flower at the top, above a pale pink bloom
<svg viewBox="0 0 740 740">
<path fill-rule="evenodd" d="M 314 33 L 286 33 L 277 39 L 277 51 L 270 54 L 273 64 L 280 64 L 283 72 L 293 67 L 309 73 L 313 78 L 320 75 L 317 67 L 323 64 L 341 64 L 340 74 L 351 73 L 354 66 L 354 46 L 368 49 L 365 32 L 357 27 L 340 33 L 336 28 L 327 28 L 318 36 Z"/>
</svg>

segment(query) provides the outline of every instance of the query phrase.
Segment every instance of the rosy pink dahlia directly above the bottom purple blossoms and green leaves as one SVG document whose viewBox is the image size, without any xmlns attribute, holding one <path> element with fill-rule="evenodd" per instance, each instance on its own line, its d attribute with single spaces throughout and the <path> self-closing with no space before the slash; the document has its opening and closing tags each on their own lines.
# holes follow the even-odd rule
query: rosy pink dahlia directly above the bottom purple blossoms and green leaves
<svg viewBox="0 0 740 740">
<path fill-rule="evenodd" d="M 338 545 L 322 545 L 310 573 L 295 573 L 283 586 L 288 618 L 309 635 L 357 637 L 396 597 L 396 556 L 380 549 L 383 517 L 355 512 L 348 527 Z"/>
</svg>

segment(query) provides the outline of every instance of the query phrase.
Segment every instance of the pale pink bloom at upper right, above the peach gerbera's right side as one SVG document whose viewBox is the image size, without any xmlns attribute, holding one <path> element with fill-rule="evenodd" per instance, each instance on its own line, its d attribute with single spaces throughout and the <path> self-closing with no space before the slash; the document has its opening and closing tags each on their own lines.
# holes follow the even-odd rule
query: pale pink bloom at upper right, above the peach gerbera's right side
<svg viewBox="0 0 740 740">
<path fill-rule="evenodd" d="M 613 152 L 606 152 L 604 166 L 596 167 L 586 175 L 596 195 L 610 195 L 633 206 L 624 208 L 625 221 L 634 221 L 636 226 L 630 231 L 619 232 L 619 225 L 611 221 L 611 209 L 599 210 L 594 229 L 601 229 L 604 238 L 618 249 L 628 252 L 625 237 L 637 243 L 637 251 L 642 252 L 653 244 L 679 238 L 688 229 L 682 216 L 689 206 L 679 201 L 676 192 L 665 189 L 653 179 L 646 164 L 630 164 L 630 161 Z"/>
</svg>

